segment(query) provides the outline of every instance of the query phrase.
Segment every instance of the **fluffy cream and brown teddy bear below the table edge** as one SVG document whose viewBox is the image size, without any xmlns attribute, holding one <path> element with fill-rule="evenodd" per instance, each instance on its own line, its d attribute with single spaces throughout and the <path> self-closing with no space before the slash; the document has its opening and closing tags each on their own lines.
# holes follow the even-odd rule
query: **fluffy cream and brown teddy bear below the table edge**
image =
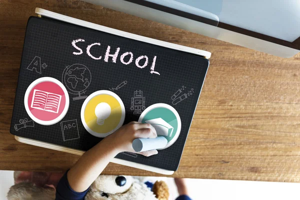
<svg viewBox="0 0 300 200">
<path fill-rule="evenodd" d="M 16 180 L 16 177 L 15 177 Z M 15 181 L 16 182 L 16 181 Z M 42 198 L 41 198 L 42 197 Z M 167 200 L 168 187 L 164 181 L 156 181 L 152 191 L 138 178 L 128 175 L 99 175 L 91 184 L 85 200 Z M 55 188 L 40 186 L 32 182 L 17 182 L 11 186 L 8 200 L 54 199 Z"/>
</svg>

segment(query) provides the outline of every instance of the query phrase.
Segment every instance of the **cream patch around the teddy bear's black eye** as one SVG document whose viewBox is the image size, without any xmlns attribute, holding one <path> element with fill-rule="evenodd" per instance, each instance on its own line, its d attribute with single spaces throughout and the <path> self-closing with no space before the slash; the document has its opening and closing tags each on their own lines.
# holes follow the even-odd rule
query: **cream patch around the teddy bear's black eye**
<svg viewBox="0 0 300 200">
<path fill-rule="evenodd" d="M 132 185 L 129 175 L 99 175 L 91 184 L 90 190 L 109 194 L 123 193 Z"/>
</svg>

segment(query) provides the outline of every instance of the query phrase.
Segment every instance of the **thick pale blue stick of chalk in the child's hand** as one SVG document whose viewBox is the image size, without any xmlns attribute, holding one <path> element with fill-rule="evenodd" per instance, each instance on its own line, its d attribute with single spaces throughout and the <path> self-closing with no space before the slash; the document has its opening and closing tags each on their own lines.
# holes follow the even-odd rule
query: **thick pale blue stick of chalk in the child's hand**
<svg viewBox="0 0 300 200">
<path fill-rule="evenodd" d="M 167 144 L 167 139 L 164 136 L 155 138 L 136 138 L 132 142 L 132 148 L 135 152 L 163 148 Z"/>
</svg>

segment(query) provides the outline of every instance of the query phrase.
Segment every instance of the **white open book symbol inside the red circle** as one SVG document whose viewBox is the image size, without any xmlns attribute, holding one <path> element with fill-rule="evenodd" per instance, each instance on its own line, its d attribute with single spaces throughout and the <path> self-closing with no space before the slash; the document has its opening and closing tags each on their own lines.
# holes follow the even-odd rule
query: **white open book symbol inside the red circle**
<svg viewBox="0 0 300 200">
<path fill-rule="evenodd" d="M 33 90 L 31 107 L 48 112 L 58 112 L 61 95 L 38 89 Z"/>
</svg>

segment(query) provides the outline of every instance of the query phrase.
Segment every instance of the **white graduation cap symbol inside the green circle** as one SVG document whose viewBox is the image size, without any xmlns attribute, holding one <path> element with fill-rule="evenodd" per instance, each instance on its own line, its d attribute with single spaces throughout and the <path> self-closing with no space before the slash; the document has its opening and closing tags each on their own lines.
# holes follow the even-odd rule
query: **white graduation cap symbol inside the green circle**
<svg viewBox="0 0 300 200">
<path fill-rule="evenodd" d="M 162 118 L 154 118 L 145 121 L 146 123 L 150 123 L 156 130 L 157 135 L 164 135 L 164 136 L 172 136 L 173 133 L 173 126 L 168 124 Z"/>
</svg>

